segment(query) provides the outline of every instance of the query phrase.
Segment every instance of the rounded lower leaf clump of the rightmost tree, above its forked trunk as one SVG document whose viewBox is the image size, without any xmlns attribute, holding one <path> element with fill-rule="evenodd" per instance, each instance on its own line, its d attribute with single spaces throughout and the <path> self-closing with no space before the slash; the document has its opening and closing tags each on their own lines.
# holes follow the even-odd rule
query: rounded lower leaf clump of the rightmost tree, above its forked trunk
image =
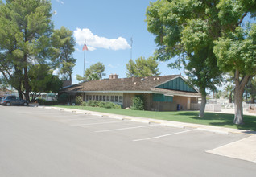
<svg viewBox="0 0 256 177">
<path fill-rule="evenodd" d="M 256 74 L 256 24 L 237 27 L 216 41 L 214 53 L 224 72 L 238 70 L 242 75 Z"/>
</svg>

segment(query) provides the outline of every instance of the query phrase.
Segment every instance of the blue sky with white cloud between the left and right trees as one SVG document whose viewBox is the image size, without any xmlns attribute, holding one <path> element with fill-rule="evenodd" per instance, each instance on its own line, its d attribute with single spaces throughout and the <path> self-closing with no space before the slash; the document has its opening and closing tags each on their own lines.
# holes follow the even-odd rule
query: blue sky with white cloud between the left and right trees
<svg viewBox="0 0 256 177">
<path fill-rule="evenodd" d="M 55 29 L 67 27 L 74 32 L 76 51 L 73 56 L 77 59 L 73 70 L 72 83 L 78 83 L 76 74 L 82 75 L 84 68 L 97 62 L 105 65 L 104 78 L 116 73 L 126 77 L 126 63 L 130 60 L 130 38 L 133 39 L 132 59 L 140 56 L 152 56 L 156 45 L 154 35 L 147 31 L 146 9 L 150 0 L 52 0 L 52 21 Z M 159 64 L 161 75 L 180 74 L 182 71 L 171 70 L 168 62 Z M 184 74 L 183 74 L 184 75 Z"/>
</svg>

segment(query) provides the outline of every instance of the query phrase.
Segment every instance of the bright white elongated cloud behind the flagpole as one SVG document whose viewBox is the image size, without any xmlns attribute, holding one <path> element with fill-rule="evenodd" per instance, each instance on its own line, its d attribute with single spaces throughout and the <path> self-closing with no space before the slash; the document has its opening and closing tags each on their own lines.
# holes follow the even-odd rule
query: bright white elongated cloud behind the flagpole
<svg viewBox="0 0 256 177">
<path fill-rule="evenodd" d="M 122 37 L 118 37 L 117 39 L 107 39 L 105 37 L 94 35 L 88 28 L 82 30 L 81 28 L 76 28 L 74 36 L 76 38 L 76 43 L 81 46 L 84 45 L 86 39 L 86 45 L 89 51 L 96 50 L 97 48 L 105 48 L 114 51 L 130 48 L 129 43 Z"/>
</svg>

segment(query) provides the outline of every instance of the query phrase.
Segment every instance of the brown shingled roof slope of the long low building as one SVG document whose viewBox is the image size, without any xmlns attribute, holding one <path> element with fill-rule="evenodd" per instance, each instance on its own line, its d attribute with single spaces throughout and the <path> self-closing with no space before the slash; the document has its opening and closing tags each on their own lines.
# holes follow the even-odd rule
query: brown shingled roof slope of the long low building
<svg viewBox="0 0 256 177">
<path fill-rule="evenodd" d="M 130 77 L 121 79 L 91 80 L 64 88 L 61 92 L 79 91 L 151 91 L 156 85 L 180 75 Z"/>
</svg>

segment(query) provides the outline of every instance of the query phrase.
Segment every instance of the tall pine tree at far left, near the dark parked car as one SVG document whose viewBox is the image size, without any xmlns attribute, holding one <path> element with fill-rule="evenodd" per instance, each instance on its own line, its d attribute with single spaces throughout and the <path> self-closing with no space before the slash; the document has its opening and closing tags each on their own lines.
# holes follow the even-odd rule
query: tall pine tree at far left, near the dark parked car
<svg viewBox="0 0 256 177">
<path fill-rule="evenodd" d="M 6 0 L 6 4 L 1 5 L 0 46 L 1 60 L 4 60 L 1 72 L 6 80 L 14 79 L 15 74 L 23 76 L 27 101 L 28 70 L 32 63 L 44 63 L 47 59 L 53 28 L 51 10 L 48 0 Z"/>
</svg>

